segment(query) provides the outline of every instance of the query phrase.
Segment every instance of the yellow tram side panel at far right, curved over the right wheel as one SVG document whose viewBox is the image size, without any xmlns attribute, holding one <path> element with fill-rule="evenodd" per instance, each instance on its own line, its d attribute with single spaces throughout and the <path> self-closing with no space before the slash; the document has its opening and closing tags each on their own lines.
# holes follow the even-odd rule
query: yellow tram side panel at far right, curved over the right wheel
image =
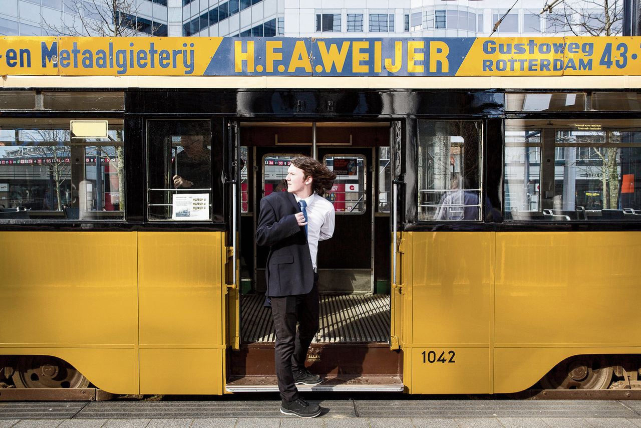
<svg viewBox="0 0 641 428">
<path fill-rule="evenodd" d="M 641 353 L 641 232 L 496 235 L 495 392 L 572 355 Z"/>
</svg>

